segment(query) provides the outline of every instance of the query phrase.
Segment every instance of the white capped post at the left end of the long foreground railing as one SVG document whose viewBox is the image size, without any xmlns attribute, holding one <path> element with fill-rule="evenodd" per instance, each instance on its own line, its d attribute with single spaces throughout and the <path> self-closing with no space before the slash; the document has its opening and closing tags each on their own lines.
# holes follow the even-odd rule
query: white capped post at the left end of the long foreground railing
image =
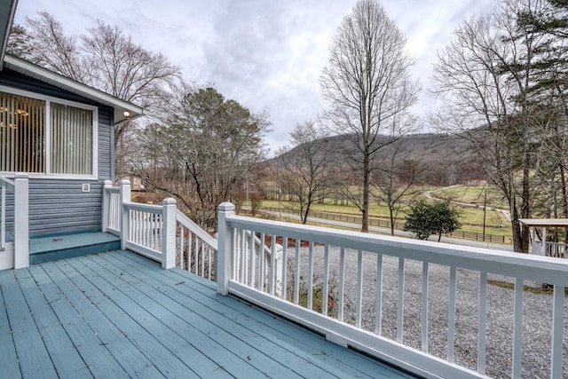
<svg viewBox="0 0 568 379">
<path fill-rule="evenodd" d="M 231 278 L 231 260 L 233 249 L 232 231 L 227 225 L 226 217 L 234 216 L 234 205 L 230 202 L 219 204 L 218 237 L 217 237 L 217 292 L 229 294 L 229 279 Z"/>
</svg>

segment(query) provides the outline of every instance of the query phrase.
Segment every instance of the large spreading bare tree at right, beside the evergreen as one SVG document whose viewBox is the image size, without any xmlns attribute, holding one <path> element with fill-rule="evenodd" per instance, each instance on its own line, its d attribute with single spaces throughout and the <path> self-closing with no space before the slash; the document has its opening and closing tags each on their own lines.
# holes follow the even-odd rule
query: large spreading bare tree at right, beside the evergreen
<svg viewBox="0 0 568 379">
<path fill-rule="evenodd" d="M 532 214 L 530 182 L 548 115 L 533 101 L 534 67 L 546 41 L 518 17 L 546 6 L 505 0 L 493 12 L 463 21 L 439 54 L 434 75 L 442 106 L 433 121 L 468 138 L 484 160 L 488 177 L 509 201 L 513 245 L 521 252 L 528 251 L 529 233 L 518 220 Z"/>
</svg>

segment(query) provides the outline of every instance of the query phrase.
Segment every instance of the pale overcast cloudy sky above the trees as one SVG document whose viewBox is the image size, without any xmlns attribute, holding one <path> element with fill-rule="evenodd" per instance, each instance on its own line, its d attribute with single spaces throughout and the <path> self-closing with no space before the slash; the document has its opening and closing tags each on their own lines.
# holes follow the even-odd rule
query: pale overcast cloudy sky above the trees
<svg viewBox="0 0 568 379">
<path fill-rule="evenodd" d="M 272 153 L 289 132 L 325 106 L 319 75 L 328 47 L 356 0 L 19 0 L 15 22 L 50 12 L 67 34 L 81 35 L 104 20 L 134 42 L 160 51 L 182 67 L 185 80 L 214 84 L 227 99 L 270 114 L 265 141 Z M 463 18 L 485 12 L 495 0 L 383 0 L 408 39 L 414 75 L 429 86 L 437 51 Z M 432 101 L 422 93 L 414 113 Z"/>
</svg>

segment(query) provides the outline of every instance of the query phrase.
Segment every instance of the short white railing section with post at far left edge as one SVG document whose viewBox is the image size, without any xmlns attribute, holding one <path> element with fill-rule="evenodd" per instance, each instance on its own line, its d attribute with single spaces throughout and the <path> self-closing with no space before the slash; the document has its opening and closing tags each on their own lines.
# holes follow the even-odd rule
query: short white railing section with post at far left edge
<svg viewBox="0 0 568 379">
<path fill-rule="evenodd" d="M 18 172 L 14 180 L 0 176 L 0 251 L 6 251 L 6 197 L 13 193 L 13 255 L 0 259 L 0 269 L 25 268 L 29 266 L 29 182 L 28 174 Z"/>
</svg>

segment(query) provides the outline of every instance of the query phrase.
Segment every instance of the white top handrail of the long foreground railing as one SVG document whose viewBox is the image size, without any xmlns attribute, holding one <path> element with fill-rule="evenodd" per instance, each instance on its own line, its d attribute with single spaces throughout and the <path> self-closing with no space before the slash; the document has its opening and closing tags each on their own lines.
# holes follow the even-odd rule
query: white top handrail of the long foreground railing
<svg viewBox="0 0 568 379">
<path fill-rule="evenodd" d="M 568 286 L 568 262 L 561 258 L 501 250 L 493 251 L 469 246 L 456 248 L 441 242 L 330 230 L 320 226 L 296 225 L 251 217 L 231 216 L 226 220 L 233 228 L 250 229 L 248 226 L 254 226 L 257 231 L 262 230 L 264 233 L 276 235 L 284 234 L 299 240 L 318 241 L 320 238 L 329 245 L 347 249 L 361 249 L 371 253 L 383 253 L 431 264 Z M 396 249 L 396 251 L 390 254 L 390 249 Z"/>
</svg>

